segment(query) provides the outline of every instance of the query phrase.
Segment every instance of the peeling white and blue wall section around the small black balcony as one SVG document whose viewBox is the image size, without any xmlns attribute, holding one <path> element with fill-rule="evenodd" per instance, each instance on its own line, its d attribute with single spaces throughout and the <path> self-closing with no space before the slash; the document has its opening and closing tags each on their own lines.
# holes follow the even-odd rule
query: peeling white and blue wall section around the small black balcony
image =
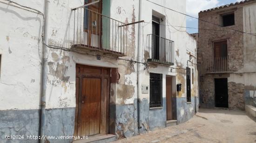
<svg viewBox="0 0 256 143">
<path fill-rule="evenodd" d="M 186 1 L 185 0 L 179 0 L 175 1 L 175 5 L 173 5 L 173 0 L 168 0 L 165 2 L 162 1 L 154 1 L 155 3 L 159 5 L 163 5 L 175 10 L 178 10 L 180 12 L 186 12 Z M 160 6 L 156 6 L 155 4 L 152 4 L 147 1 L 142 1 L 142 9 L 141 9 L 141 17 L 145 22 L 152 22 L 152 14 L 155 16 L 158 16 L 159 18 L 162 18 L 161 24 L 163 25 L 182 25 L 186 26 L 186 18 L 183 15 L 179 15 L 175 12 L 169 11 L 167 9 L 164 9 Z M 152 14 L 148 14 L 152 13 Z M 175 20 L 174 20 L 175 19 Z M 175 47 L 175 65 L 172 66 L 173 68 L 186 68 L 187 61 L 191 60 L 191 62 L 196 63 L 196 41 L 193 37 L 191 37 L 184 28 L 180 28 L 177 31 L 171 26 L 163 26 L 161 25 L 160 28 L 160 35 L 161 37 L 165 37 L 167 39 L 174 41 L 174 47 Z M 181 32 L 184 31 L 184 32 Z M 141 24 L 141 43 L 140 43 L 140 62 L 146 62 L 148 59 L 148 54 L 150 51 L 148 51 L 148 44 L 147 44 L 147 35 L 152 34 L 152 25 L 148 23 Z M 195 57 L 194 57 L 195 56 Z M 194 85 L 191 85 L 193 90 L 191 91 L 191 95 L 194 97 L 198 97 L 198 84 L 197 82 L 197 68 L 195 65 L 192 65 L 189 63 L 190 68 L 194 68 Z M 159 73 L 162 74 L 162 97 L 163 97 L 163 107 L 161 109 L 149 109 L 149 93 L 143 93 L 140 94 L 141 99 L 141 132 L 147 132 L 148 130 L 155 130 L 165 127 L 166 122 L 166 75 L 173 76 L 175 78 L 175 82 L 173 83 L 173 94 L 174 94 L 174 103 L 176 103 L 175 108 L 177 113 L 177 122 L 182 123 L 189 118 L 191 118 L 193 115 L 190 114 L 189 110 L 186 110 L 186 114 L 190 114 L 191 116 L 186 116 L 186 114 L 179 115 L 180 111 L 182 110 L 183 106 L 187 106 L 187 102 L 178 103 L 179 100 L 182 98 L 186 99 L 186 70 L 185 69 L 172 69 L 168 66 L 162 66 L 157 64 L 148 64 L 148 67 L 145 68 L 144 66 L 141 66 L 139 69 L 141 73 L 141 85 L 148 85 L 149 86 L 149 73 Z M 192 70 L 191 70 L 192 71 Z M 176 93 L 176 84 L 181 83 L 182 84 L 182 92 Z M 150 88 L 150 87 L 149 87 Z M 150 89 L 149 89 L 150 91 Z M 198 100 L 198 98 L 197 98 Z M 194 103 L 194 100 L 192 100 Z M 198 102 L 197 102 L 198 105 Z M 191 106 L 192 107 L 192 106 Z M 194 108 L 193 108 L 194 107 Z M 195 106 L 193 106 L 191 109 L 195 112 Z M 175 115 L 174 115 L 175 116 Z M 155 118 L 159 117 L 159 118 Z"/>
</svg>

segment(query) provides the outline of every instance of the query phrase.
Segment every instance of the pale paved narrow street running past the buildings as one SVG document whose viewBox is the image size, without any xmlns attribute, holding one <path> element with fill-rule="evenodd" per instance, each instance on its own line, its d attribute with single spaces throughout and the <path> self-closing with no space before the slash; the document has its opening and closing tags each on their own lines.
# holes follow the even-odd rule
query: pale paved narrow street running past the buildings
<svg viewBox="0 0 256 143">
<path fill-rule="evenodd" d="M 256 121 L 243 111 L 200 109 L 186 123 L 114 143 L 256 143 Z"/>
</svg>

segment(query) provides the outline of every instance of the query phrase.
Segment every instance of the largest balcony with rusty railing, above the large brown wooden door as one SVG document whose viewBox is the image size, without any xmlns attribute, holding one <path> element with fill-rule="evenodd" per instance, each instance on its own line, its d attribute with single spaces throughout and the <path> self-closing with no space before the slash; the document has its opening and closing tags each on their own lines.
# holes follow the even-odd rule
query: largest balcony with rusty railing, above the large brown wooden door
<svg viewBox="0 0 256 143">
<path fill-rule="evenodd" d="M 72 50 L 113 57 L 127 54 L 127 25 L 93 7 L 74 10 Z"/>
</svg>

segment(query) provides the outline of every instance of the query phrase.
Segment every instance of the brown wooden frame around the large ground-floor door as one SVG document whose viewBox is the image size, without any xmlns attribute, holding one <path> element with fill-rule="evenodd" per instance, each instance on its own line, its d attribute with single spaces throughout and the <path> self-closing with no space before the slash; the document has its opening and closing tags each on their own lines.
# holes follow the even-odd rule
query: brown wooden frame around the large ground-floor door
<svg viewBox="0 0 256 143">
<path fill-rule="evenodd" d="M 75 107 L 75 124 L 74 124 L 74 136 L 79 136 L 77 134 L 77 130 L 78 130 L 78 117 L 79 114 L 78 114 L 78 111 L 79 109 L 81 108 L 81 106 L 79 106 L 79 98 L 81 98 L 81 93 L 82 93 L 82 78 L 99 78 L 101 79 L 101 97 L 104 93 L 104 91 L 102 90 L 103 89 L 103 80 L 104 79 L 108 79 L 108 83 L 107 83 L 107 90 L 108 90 L 108 93 L 107 93 L 107 99 L 106 99 L 106 131 L 104 133 L 101 133 L 101 115 L 100 115 L 100 133 L 99 134 L 95 134 L 95 135 L 92 135 L 90 137 L 94 137 L 94 136 L 100 136 L 100 135 L 104 135 L 104 134 L 108 134 L 109 133 L 109 117 L 110 117 L 110 114 L 109 114 L 109 111 L 110 111 L 110 75 L 111 75 L 111 68 L 105 68 L 105 67 L 98 67 L 98 66 L 90 66 L 90 65 L 83 65 L 83 64 L 76 64 L 76 70 L 77 70 L 77 67 L 80 67 L 80 68 L 101 68 L 101 75 L 99 74 L 80 74 L 78 71 L 76 71 L 76 78 L 79 78 L 79 93 L 75 94 L 76 96 L 76 107 Z M 102 74 L 103 73 L 103 69 L 107 69 L 108 70 L 108 75 L 104 75 Z M 101 102 L 102 102 L 102 99 L 101 99 Z M 102 103 L 101 103 L 102 105 Z M 101 114 L 101 105 L 100 105 L 100 114 Z M 80 109 L 81 111 L 81 109 Z M 88 135 L 86 135 L 88 136 Z"/>
</svg>

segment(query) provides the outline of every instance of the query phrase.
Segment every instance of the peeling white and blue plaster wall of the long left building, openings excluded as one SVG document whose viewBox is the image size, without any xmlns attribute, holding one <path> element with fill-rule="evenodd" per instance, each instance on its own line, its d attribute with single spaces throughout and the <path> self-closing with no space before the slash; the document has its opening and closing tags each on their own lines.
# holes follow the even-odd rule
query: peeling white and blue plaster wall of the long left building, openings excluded
<svg viewBox="0 0 256 143">
<path fill-rule="evenodd" d="M 81 0 L 47 0 L 49 21 L 47 25 L 46 43 L 49 45 L 70 48 L 73 44 L 74 35 L 74 12 L 71 8 L 81 6 Z M 18 1 L 17 1 L 18 2 Z M 160 5 L 186 12 L 185 0 L 168 0 L 164 4 L 162 1 L 155 1 Z M 175 2 L 175 5 L 173 3 Z M 20 2 L 25 6 L 30 6 L 43 12 L 43 1 L 28 0 Z M 155 6 L 142 0 L 141 20 L 151 22 L 152 11 L 165 16 L 162 23 L 170 25 L 186 26 L 186 18 Z M 138 21 L 139 1 L 138 0 L 111 0 L 110 17 L 125 23 Z M 0 131 L 5 134 L 23 133 L 20 129 L 13 130 L 11 125 L 19 124 L 26 126 L 29 134 L 39 134 L 39 109 L 40 109 L 40 72 L 41 72 L 41 26 L 42 18 L 40 15 L 24 11 L 19 8 L 0 4 L 0 14 L 3 15 L 5 26 L 1 29 L 0 35 L 0 54 L 2 54 L 2 66 L 0 76 L 0 119 L 6 121 L 4 128 Z M 126 59 L 137 60 L 137 49 L 140 50 L 140 62 L 147 60 L 147 34 L 151 34 L 152 26 L 141 23 L 140 44 L 138 43 L 137 25 L 128 26 L 128 51 Z M 177 31 L 169 26 L 161 27 L 161 36 L 175 41 L 175 65 L 173 68 L 186 68 L 187 60 L 196 62 L 196 42 L 195 39 L 184 28 Z M 165 32 L 166 31 L 166 32 Z M 110 39 L 111 41 L 111 39 Z M 184 42 L 186 41 L 186 42 Z M 95 56 L 82 55 L 76 52 L 64 50 L 48 50 L 47 58 L 47 93 L 46 93 L 46 133 L 48 135 L 73 135 L 74 116 L 75 116 L 75 65 L 85 64 L 91 66 L 101 66 L 108 68 L 118 68 L 120 80 L 118 83 L 111 83 L 110 98 L 110 133 L 116 134 L 118 138 L 131 137 L 138 134 L 137 128 L 137 65 L 127 61 L 109 59 L 101 57 L 96 60 Z M 195 57 L 192 57 L 195 56 Z M 17 60 L 13 60 L 17 59 Z M 195 77 L 192 85 L 192 98 L 197 97 L 197 69 L 195 65 L 189 64 L 194 68 Z M 191 118 L 194 108 L 184 110 L 182 108 L 187 103 L 180 103 L 179 100 L 186 99 L 186 72 L 184 69 L 175 70 L 161 65 L 150 65 L 148 68 L 140 65 L 141 85 L 149 85 L 149 73 L 163 74 L 163 108 L 158 110 L 149 109 L 149 94 L 141 94 L 141 132 L 148 132 L 165 127 L 166 121 L 166 95 L 165 95 L 165 76 L 171 75 L 174 80 L 174 103 L 177 113 L 178 123 Z M 175 85 L 182 83 L 182 93 L 175 92 Z M 3 89 L 3 90 L 1 90 Z M 194 100 L 192 100 L 194 103 Z M 13 110 L 15 109 L 15 110 Z M 28 110 L 29 109 L 29 110 Z M 5 111 L 12 110 L 12 111 Z M 20 112 L 22 118 L 13 120 L 10 112 Z M 33 110 L 33 111 L 30 111 Z M 6 116 L 8 114 L 9 116 Z M 15 113 L 16 114 L 16 113 Z M 189 114 L 189 116 L 187 116 Z M 2 116 L 3 115 L 3 116 Z M 155 118 L 159 116 L 159 118 Z M 18 116 L 19 117 L 19 116 Z M 67 118 L 68 117 L 68 118 Z M 65 126 L 63 126 L 65 124 Z M 11 127 L 11 128 L 9 128 Z M 19 131 L 16 131 L 19 130 Z M 27 134 L 24 131 L 24 134 Z M 0 135 L 3 137 L 3 134 Z M 70 140 L 62 140 L 69 143 Z M 59 142 L 50 140 L 51 143 Z"/>
</svg>

